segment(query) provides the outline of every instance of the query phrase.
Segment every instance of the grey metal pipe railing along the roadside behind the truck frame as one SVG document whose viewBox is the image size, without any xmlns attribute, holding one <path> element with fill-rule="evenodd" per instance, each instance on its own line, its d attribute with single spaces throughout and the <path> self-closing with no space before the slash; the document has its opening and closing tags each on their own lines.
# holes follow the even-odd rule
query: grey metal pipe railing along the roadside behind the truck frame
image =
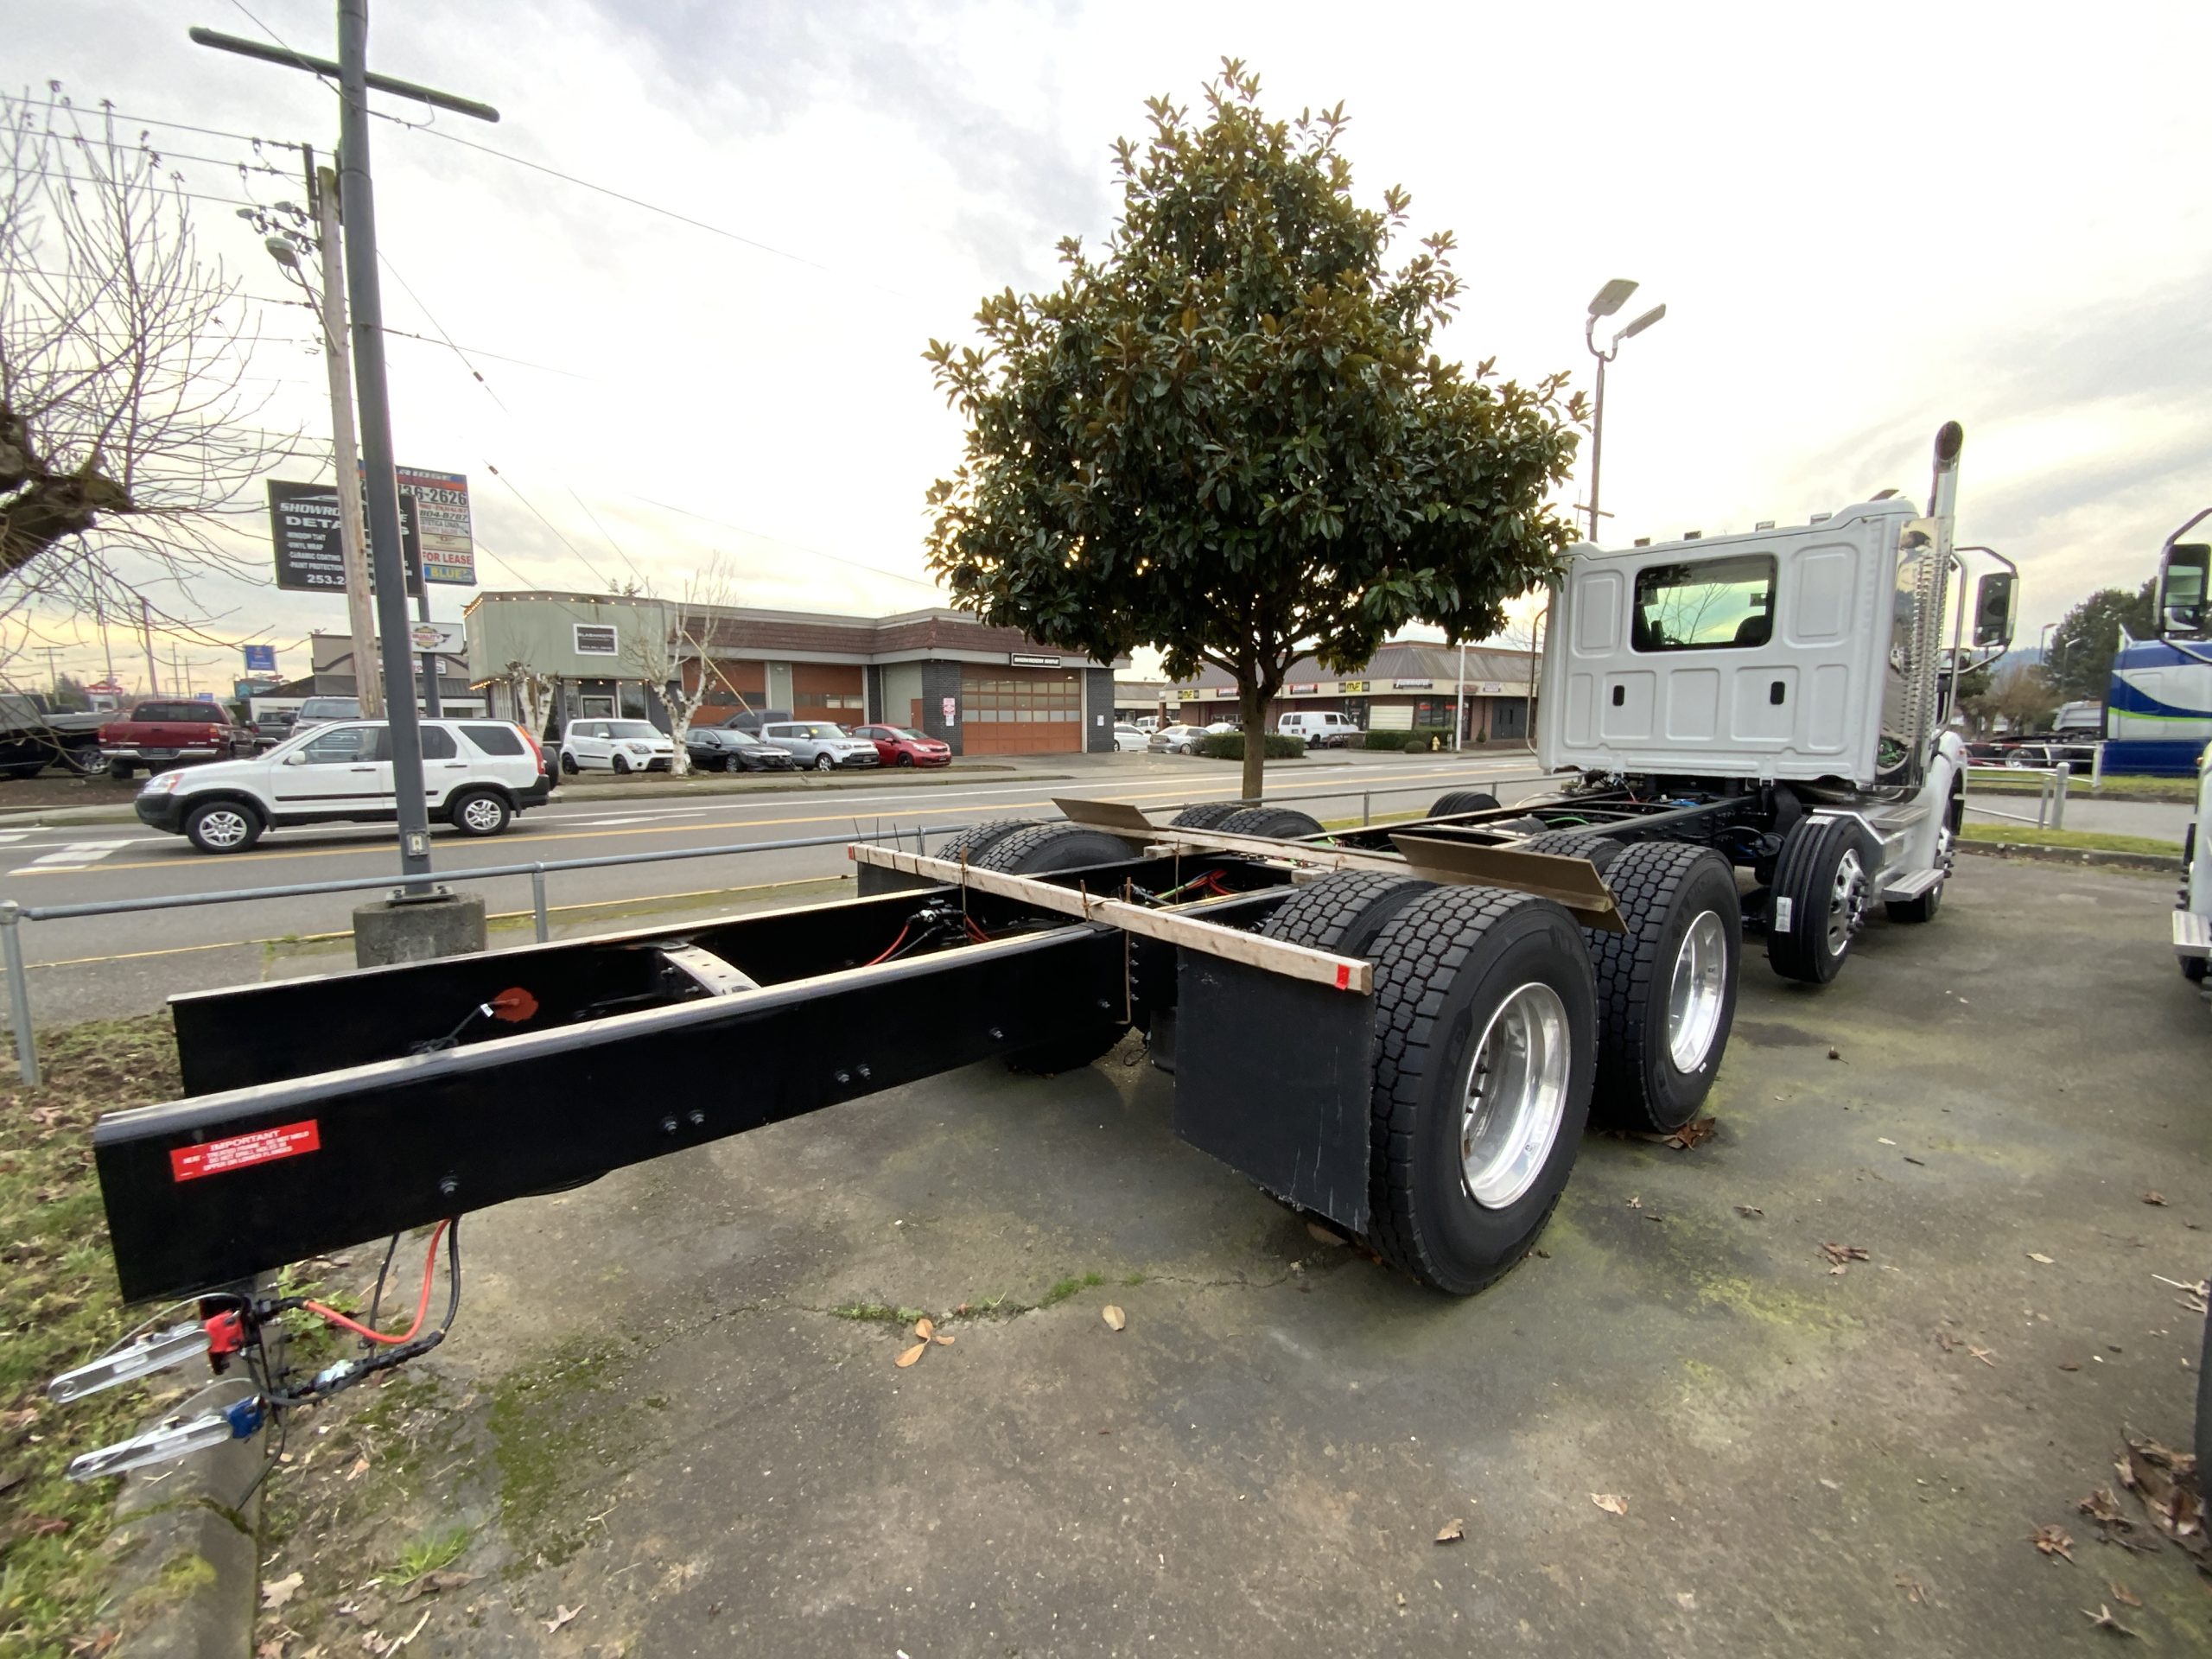
<svg viewBox="0 0 2212 1659">
<path fill-rule="evenodd" d="M 1548 783 L 1551 774 L 1533 776 L 1502 776 L 1502 779 L 1478 779 L 1473 785 L 1464 787 L 1495 787 L 1502 783 Z M 1360 796 L 1360 823 L 1374 821 L 1374 799 L 1391 794 L 1433 794 L 1440 785 L 1431 779 L 1429 783 L 1405 783 L 1385 787 L 1321 787 L 1305 790 L 1301 794 L 1274 794 L 1267 796 L 1270 805 L 1281 805 L 1290 801 L 1349 801 L 1354 794 Z M 1194 805 L 1194 803 L 1190 803 Z M 1179 810 L 1179 807 L 1164 807 Z M 544 945 L 553 938 L 551 918 L 546 911 L 546 876 L 557 876 L 575 869 L 615 869 L 622 865 L 668 865 L 681 863 L 686 858 L 739 858 L 757 852 L 803 852 L 807 847 L 843 847 L 852 841 L 889 841 L 900 843 L 914 838 L 916 852 L 925 849 L 925 836 L 951 836 L 962 830 L 973 830 L 973 823 L 916 823 L 911 830 L 900 830 L 896 823 L 889 830 L 860 830 L 854 823 L 852 834 L 841 836 L 799 836 L 794 841 L 739 841 L 717 847 L 664 847 L 659 852 L 624 852 L 606 854 L 599 858 L 542 858 L 522 865 L 476 865 L 469 869 L 438 872 L 436 880 L 440 885 L 469 885 L 480 880 L 507 880 L 513 876 L 531 878 L 531 916 L 538 933 L 538 942 Z M 252 905 L 268 898 L 312 898 L 321 894 L 365 894 L 376 889 L 396 889 L 400 883 L 396 876 L 347 876 L 345 880 L 303 880 L 285 883 L 283 887 L 237 887 L 217 894 L 168 894 L 157 898 L 108 898 L 88 900 L 80 905 L 20 905 L 15 900 L 0 900 L 0 958 L 4 958 L 7 971 L 7 1000 L 9 1000 L 9 1024 L 15 1035 L 15 1071 L 29 1086 L 40 1084 L 38 1064 L 38 1031 L 31 1022 L 31 964 L 24 958 L 22 947 L 22 925 L 24 922 L 62 922 L 82 920 L 88 916 L 137 916 L 157 909 L 197 909 L 206 905 Z"/>
</svg>

